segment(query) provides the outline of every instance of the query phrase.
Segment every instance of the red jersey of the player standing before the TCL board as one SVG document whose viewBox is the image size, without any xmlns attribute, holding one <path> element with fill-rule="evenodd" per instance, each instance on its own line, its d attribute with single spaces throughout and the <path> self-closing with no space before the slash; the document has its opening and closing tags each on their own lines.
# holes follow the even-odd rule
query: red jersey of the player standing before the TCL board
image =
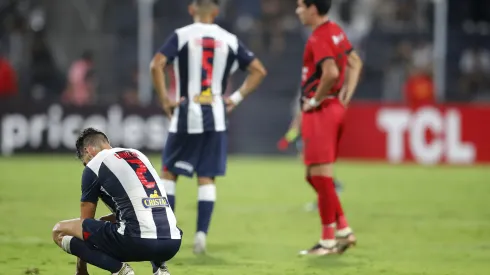
<svg viewBox="0 0 490 275">
<path fill-rule="evenodd" d="M 337 94 L 344 85 L 347 54 L 352 51 L 352 45 L 339 25 L 327 21 L 318 26 L 306 42 L 303 54 L 303 72 L 301 88 L 303 96 L 310 98 L 315 95 L 322 75 L 321 62 L 333 59 L 339 68 L 337 83 L 330 94 Z"/>
</svg>

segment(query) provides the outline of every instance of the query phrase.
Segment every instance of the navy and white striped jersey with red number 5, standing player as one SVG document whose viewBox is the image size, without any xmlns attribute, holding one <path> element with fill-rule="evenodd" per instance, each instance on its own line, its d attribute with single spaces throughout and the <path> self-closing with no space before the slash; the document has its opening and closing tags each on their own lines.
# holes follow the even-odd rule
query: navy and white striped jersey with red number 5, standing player
<svg viewBox="0 0 490 275">
<path fill-rule="evenodd" d="M 176 97 L 185 97 L 174 112 L 169 131 L 198 134 L 226 130 L 222 95 L 228 78 L 255 58 L 236 37 L 216 24 L 194 23 L 177 29 L 160 53 L 173 63 Z"/>
</svg>

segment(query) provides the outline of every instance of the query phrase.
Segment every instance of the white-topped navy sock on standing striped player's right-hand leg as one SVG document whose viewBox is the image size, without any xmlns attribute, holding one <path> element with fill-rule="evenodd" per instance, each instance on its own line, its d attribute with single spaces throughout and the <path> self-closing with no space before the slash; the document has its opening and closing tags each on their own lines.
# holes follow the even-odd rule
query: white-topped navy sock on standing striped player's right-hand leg
<svg viewBox="0 0 490 275">
<path fill-rule="evenodd" d="M 201 231 L 207 234 L 216 201 L 216 185 L 200 185 L 197 196 L 197 232 Z"/>
</svg>

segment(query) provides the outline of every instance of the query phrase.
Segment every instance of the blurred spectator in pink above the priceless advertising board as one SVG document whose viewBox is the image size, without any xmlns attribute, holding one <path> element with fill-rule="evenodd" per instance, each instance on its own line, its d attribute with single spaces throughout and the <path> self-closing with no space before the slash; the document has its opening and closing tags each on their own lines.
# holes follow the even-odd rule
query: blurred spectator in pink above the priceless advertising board
<svg viewBox="0 0 490 275">
<path fill-rule="evenodd" d="M 85 51 L 81 58 L 72 63 L 68 74 L 68 87 L 63 101 L 77 106 L 89 105 L 95 99 L 94 56 Z"/>
</svg>

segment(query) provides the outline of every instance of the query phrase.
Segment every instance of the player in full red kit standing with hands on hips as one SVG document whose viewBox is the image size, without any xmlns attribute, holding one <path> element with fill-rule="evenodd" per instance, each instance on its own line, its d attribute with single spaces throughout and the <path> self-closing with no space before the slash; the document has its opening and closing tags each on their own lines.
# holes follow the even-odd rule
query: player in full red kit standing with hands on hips
<svg viewBox="0 0 490 275">
<path fill-rule="evenodd" d="M 333 163 L 346 106 L 359 81 L 362 61 L 344 31 L 330 21 L 331 0 L 298 0 L 301 22 L 313 29 L 303 56 L 301 135 L 307 181 L 318 195 L 320 241 L 302 255 L 341 254 L 356 238 L 333 183 Z"/>
</svg>

